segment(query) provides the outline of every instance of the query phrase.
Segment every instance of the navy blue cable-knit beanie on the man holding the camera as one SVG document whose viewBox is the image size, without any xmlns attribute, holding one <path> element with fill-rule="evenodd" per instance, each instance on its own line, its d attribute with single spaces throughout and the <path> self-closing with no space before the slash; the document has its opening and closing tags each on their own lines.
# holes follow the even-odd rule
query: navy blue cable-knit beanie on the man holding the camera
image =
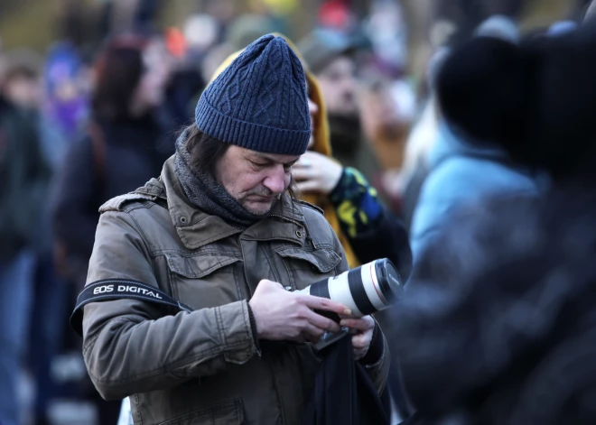
<svg viewBox="0 0 596 425">
<path fill-rule="evenodd" d="M 195 122 L 222 142 L 257 152 L 302 155 L 311 136 L 301 61 L 281 37 L 250 44 L 199 99 Z"/>
</svg>

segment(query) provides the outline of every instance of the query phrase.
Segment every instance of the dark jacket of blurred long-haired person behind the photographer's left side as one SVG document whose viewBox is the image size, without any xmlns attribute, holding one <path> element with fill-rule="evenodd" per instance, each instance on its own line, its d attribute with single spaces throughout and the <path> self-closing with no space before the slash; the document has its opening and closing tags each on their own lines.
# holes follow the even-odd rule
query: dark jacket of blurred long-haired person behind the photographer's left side
<svg viewBox="0 0 596 425">
<path fill-rule="evenodd" d="M 133 191 L 161 174 L 174 152 L 173 139 L 163 135 L 152 115 L 135 120 L 98 122 L 105 160 L 99 166 L 91 135 L 73 143 L 52 188 L 55 237 L 88 262 L 98 226 L 98 208 L 108 199 Z M 86 267 L 85 267 L 86 268 Z"/>
</svg>

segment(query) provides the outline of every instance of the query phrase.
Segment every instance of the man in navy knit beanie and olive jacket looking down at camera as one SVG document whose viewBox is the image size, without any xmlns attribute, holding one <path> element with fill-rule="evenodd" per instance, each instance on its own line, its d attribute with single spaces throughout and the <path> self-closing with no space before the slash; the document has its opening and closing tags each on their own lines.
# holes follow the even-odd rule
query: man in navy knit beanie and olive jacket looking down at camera
<svg viewBox="0 0 596 425">
<path fill-rule="evenodd" d="M 295 291 L 348 269 L 321 212 L 292 195 L 310 127 L 301 62 L 266 35 L 205 90 L 160 178 L 100 208 L 71 323 L 98 392 L 130 396 L 134 423 L 302 423 L 312 342 L 340 326 L 383 390 L 375 320 L 338 324 L 319 312 L 349 307 Z"/>
</svg>

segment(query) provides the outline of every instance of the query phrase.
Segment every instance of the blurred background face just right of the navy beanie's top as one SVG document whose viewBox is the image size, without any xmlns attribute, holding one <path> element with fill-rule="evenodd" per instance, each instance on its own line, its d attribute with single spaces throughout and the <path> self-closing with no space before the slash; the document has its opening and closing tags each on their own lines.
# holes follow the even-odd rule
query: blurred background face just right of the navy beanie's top
<svg viewBox="0 0 596 425">
<path fill-rule="evenodd" d="M 339 56 L 317 75 L 323 100 L 330 114 L 357 115 L 356 64 L 348 56 Z"/>
</svg>

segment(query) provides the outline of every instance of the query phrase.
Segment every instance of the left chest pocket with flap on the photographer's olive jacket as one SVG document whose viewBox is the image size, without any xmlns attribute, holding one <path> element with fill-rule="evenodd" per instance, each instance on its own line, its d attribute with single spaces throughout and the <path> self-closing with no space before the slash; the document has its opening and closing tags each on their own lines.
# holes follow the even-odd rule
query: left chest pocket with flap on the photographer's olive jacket
<svg viewBox="0 0 596 425">
<path fill-rule="evenodd" d="M 172 293 L 195 310 L 243 300 L 234 254 L 166 254 Z"/>
</svg>

